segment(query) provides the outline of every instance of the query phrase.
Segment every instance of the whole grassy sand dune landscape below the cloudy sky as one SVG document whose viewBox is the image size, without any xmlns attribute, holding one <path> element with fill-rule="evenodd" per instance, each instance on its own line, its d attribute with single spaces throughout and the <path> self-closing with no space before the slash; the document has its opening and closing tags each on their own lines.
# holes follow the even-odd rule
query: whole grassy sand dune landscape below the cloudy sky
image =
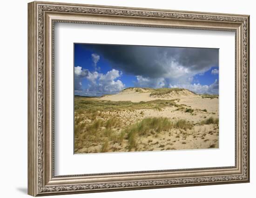
<svg viewBox="0 0 256 198">
<path fill-rule="evenodd" d="M 75 130 L 75 153 L 218 148 L 218 106 L 218 96 L 188 89 L 128 88 L 115 95 L 75 97 L 75 122 L 85 126 Z M 166 122 L 159 125 L 165 129 L 156 121 Z"/>
</svg>

